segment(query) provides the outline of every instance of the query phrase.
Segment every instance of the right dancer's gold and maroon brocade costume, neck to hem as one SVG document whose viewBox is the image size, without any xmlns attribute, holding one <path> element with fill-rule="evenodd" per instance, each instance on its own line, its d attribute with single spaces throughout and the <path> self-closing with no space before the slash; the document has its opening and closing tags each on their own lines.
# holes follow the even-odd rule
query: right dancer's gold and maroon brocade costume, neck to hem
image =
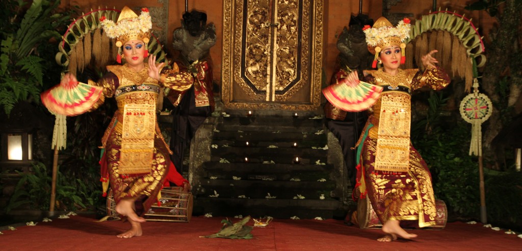
<svg viewBox="0 0 522 251">
<path fill-rule="evenodd" d="M 424 86 L 441 90 L 449 77 L 438 67 L 424 72 L 399 69 L 395 76 L 369 70 L 364 75 L 366 82 L 381 85 L 384 91 L 370 109 L 367 137 L 361 142 L 360 192 L 369 197 L 383 224 L 395 219 L 418 220 L 419 227 L 434 225 L 431 174 L 410 142 L 410 95 Z"/>
</svg>

